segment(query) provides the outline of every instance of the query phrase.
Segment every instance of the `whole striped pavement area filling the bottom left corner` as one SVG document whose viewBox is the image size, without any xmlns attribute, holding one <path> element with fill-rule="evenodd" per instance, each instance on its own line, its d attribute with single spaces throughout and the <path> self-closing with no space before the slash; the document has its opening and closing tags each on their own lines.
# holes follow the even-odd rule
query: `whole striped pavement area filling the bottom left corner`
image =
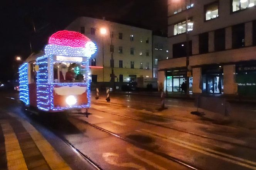
<svg viewBox="0 0 256 170">
<path fill-rule="evenodd" d="M 52 145 L 27 121 L 0 112 L 0 169 L 71 169 Z"/>
</svg>

